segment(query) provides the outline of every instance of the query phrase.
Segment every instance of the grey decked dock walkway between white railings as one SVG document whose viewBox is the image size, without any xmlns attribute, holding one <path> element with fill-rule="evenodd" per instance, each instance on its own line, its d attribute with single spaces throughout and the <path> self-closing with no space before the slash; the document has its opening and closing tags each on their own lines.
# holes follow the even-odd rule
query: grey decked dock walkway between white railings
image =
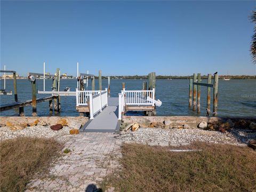
<svg viewBox="0 0 256 192">
<path fill-rule="evenodd" d="M 84 132 L 119 132 L 121 120 L 118 120 L 118 97 L 109 97 L 108 106 L 94 119 L 89 120 L 80 129 Z"/>
</svg>

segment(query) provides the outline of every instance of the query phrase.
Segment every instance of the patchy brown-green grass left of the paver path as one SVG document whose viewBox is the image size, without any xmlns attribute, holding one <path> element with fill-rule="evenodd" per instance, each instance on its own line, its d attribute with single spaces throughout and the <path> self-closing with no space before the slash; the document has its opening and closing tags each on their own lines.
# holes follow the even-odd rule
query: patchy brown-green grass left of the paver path
<svg viewBox="0 0 256 192">
<path fill-rule="evenodd" d="M 52 139 L 20 137 L 1 141 L 1 191 L 24 191 L 36 173 L 48 170 L 62 145 Z"/>
</svg>

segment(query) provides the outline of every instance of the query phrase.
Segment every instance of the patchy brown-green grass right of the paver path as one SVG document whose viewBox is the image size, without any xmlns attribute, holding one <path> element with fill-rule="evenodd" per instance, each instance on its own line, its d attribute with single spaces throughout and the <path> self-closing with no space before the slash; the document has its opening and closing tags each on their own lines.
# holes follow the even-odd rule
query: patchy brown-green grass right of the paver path
<svg viewBox="0 0 256 192">
<path fill-rule="evenodd" d="M 170 152 L 171 147 L 125 144 L 122 169 L 106 177 L 106 191 L 255 191 L 256 153 L 249 147 L 194 143 Z"/>
</svg>

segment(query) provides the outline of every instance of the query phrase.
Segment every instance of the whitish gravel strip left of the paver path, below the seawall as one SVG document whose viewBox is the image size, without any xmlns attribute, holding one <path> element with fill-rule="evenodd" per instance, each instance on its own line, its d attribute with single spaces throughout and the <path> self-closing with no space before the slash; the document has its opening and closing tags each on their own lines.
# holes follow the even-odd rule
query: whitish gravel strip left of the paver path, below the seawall
<svg viewBox="0 0 256 192">
<path fill-rule="evenodd" d="M 5 139 L 14 139 L 17 137 L 43 137 L 53 138 L 61 143 L 65 143 L 71 136 L 69 134 L 70 128 L 64 126 L 58 131 L 54 131 L 50 126 L 32 126 L 26 127 L 22 130 L 10 130 L 8 127 L 0 128 L 0 141 Z"/>
</svg>

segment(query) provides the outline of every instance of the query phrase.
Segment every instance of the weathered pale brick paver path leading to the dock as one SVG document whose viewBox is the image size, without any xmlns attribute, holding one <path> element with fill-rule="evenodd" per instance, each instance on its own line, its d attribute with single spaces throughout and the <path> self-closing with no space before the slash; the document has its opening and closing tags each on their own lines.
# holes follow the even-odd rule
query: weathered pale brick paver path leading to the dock
<svg viewBox="0 0 256 192">
<path fill-rule="evenodd" d="M 97 191 L 96 182 L 117 168 L 121 140 L 113 133 L 82 132 L 72 137 L 63 155 L 44 177 L 32 180 L 27 191 Z"/>
</svg>

